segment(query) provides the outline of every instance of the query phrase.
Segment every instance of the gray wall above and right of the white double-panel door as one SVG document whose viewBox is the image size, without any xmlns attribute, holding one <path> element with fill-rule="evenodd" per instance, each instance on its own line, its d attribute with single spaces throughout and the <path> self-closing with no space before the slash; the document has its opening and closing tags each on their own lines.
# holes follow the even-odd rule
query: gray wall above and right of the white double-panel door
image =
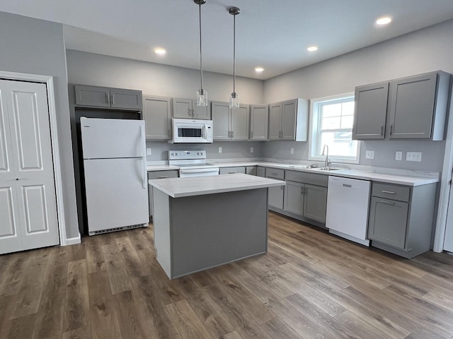
<svg viewBox="0 0 453 339">
<path fill-rule="evenodd" d="M 0 12 L 0 32 L 1 70 L 54 77 L 62 207 L 67 237 L 78 237 L 63 27 L 59 23 Z"/>
</svg>

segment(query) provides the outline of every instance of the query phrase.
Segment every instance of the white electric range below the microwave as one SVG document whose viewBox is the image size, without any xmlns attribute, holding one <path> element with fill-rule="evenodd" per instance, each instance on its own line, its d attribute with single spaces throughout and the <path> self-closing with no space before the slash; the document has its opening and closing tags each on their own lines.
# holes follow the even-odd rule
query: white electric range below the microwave
<svg viewBox="0 0 453 339">
<path fill-rule="evenodd" d="M 206 162 L 205 150 L 169 150 L 168 165 L 179 167 L 179 177 L 219 175 L 219 166 Z"/>
</svg>

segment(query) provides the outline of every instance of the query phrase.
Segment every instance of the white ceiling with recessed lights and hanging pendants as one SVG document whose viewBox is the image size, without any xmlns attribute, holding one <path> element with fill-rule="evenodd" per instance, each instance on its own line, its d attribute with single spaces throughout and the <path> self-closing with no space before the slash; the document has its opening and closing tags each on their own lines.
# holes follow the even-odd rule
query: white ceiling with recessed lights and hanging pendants
<svg viewBox="0 0 453 339">
<path fill-rule="evenodd" d="M 453 0 L 206 0 L 203 69 L 266 79 L 453 18 Z M 67 49 L 200 68 L 193 0 L 4 0 L 0 11 L 64 24 Z M 377 27 L 374 20 L 391 16 Z M 311 44 L 317 52 L 307 52 Z M 167 54 L 156 56 L 154 47 Z M 265 71 L 256 74 L 256 66 Z"/>
</svg>

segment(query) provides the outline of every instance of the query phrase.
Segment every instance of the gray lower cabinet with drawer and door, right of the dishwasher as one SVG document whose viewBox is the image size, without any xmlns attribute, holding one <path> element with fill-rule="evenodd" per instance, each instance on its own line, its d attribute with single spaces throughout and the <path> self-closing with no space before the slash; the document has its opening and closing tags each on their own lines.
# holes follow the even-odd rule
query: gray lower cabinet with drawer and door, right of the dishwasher
<svg viewBox="0 0 453 339">
<path fill-rule="evenodd" d="M 413 258 L 430 250 L 437 184 L 372 183 L 368 238 L 371 245 Z"/>
</svg>

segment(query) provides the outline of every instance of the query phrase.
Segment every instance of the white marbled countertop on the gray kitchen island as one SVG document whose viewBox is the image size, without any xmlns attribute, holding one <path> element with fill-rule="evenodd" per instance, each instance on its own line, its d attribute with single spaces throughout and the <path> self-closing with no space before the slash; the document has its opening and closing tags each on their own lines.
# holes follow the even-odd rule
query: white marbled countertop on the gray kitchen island
<svg viewBox="0 0 453 339">
<path fill-rule="evenodd" d="M 247 174 L 222 174 L 212 177 L 151 179 L 149 184 L 172 198 L 182 198 L 185 196 L 201 196 L 204 194 L 285 186 L 286 183 L 281 180 L 254 177 Z"/>
</svg>

